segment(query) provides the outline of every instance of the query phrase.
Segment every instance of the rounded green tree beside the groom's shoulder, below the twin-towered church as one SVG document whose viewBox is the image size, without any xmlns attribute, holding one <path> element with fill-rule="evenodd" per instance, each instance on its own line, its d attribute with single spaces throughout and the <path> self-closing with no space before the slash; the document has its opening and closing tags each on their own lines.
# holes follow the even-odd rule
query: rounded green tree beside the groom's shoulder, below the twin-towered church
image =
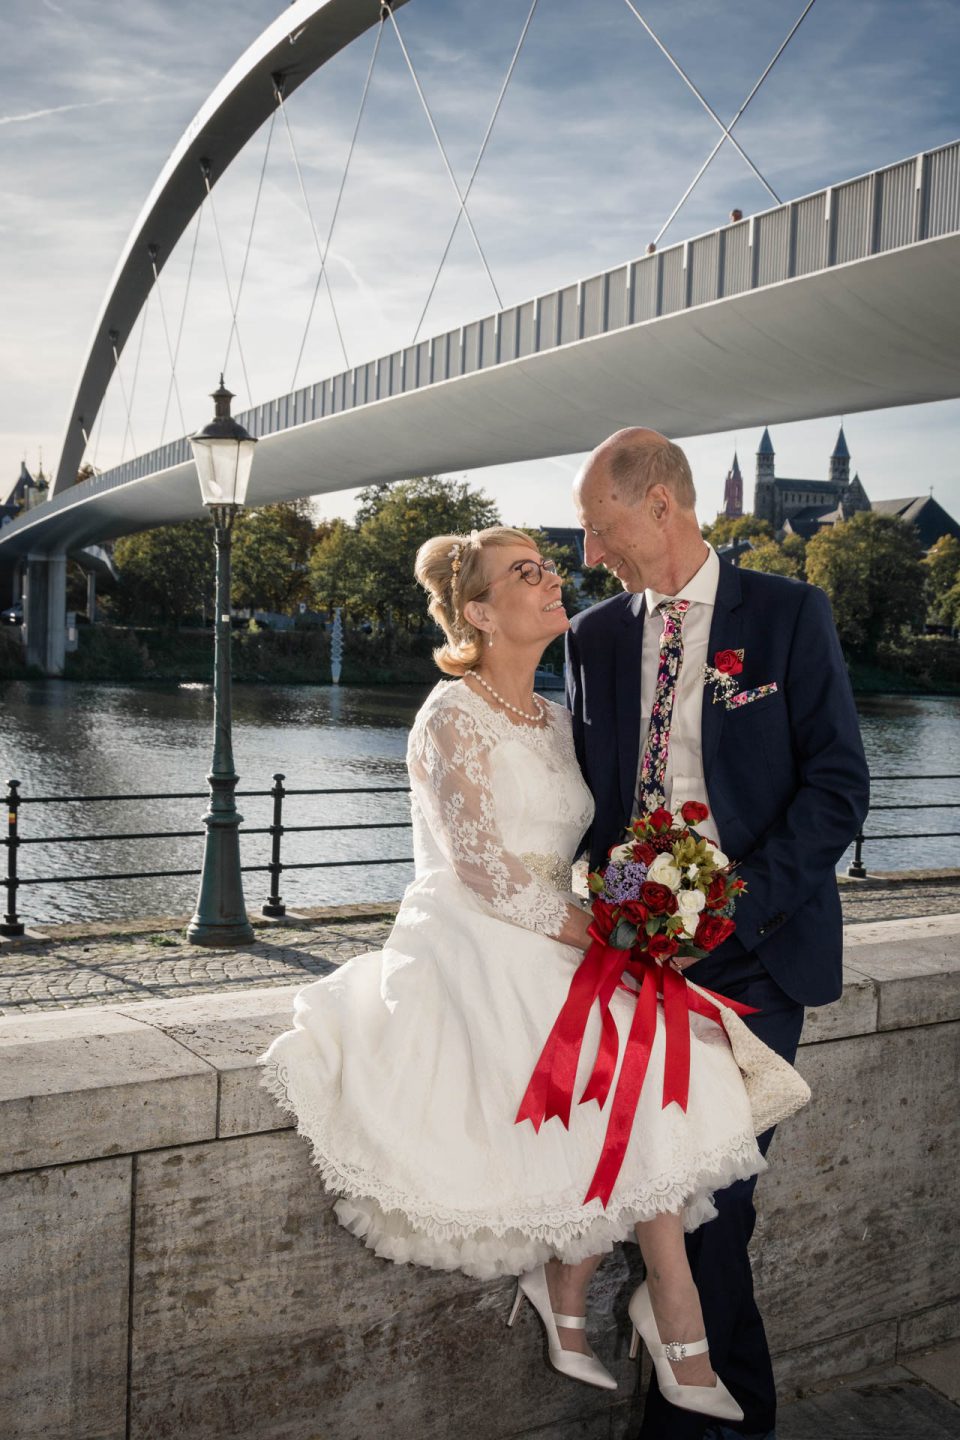
<svg viewBox="0 0 960 1440">
<path fill-rule="evenodd" d="M 924 615 L 924 569 L 911 524 L 875 511 L 825 528 L 806 547 L 806 573 L 830 598 L 841 644 L 872 658 Z"/>
</svg>

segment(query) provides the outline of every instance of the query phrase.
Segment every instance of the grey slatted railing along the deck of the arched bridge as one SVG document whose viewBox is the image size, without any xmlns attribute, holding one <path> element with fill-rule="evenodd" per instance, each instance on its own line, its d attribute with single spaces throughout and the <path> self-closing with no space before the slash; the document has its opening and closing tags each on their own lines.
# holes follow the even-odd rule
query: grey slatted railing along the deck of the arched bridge
<svg viewBox="0 0 960 1440">
<path fill-rule="evenodd" d="M 960 141 L 468 321 L 237 415 L 256 436 L 960 230 Z M 96 494 L 190 459 L 186 438 L 85 481 Z M 45 501 L 69 504 L 76 490 Z M 14 521 L 16 524 L 16 521 Z"/>
</svg>

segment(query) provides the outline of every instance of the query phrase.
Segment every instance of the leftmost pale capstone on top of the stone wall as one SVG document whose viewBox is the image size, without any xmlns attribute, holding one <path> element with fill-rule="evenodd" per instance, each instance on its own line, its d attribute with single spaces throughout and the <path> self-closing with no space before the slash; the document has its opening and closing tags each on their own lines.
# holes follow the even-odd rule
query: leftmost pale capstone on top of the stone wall
<svg viewBox="0 0 960 1440">
<path fill-rule="evenodd" d="M 111 1009 L 0 1021 L 0 1172 L 216 1135 L 214 1071 Z"/>
</svg>

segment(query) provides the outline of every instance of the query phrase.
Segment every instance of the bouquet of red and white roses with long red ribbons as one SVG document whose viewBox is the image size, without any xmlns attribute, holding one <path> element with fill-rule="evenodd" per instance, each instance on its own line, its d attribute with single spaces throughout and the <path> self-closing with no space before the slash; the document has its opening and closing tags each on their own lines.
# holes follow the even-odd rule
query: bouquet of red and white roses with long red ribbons
<svg viewBox="0 0 960 1440">
<path fill-rule="evenodd" d="M 619 1032 L 610 1005 L 617 989 L 635 996 L 603 1151 L 583 1204 L 610 1198 L 620 1172 L 646 1076 L 662 1004 L 665 1030 L 664 1109 L 687 1109 L 689 1094 L 689 1012 L 723 1025 L 723 1011 L 754 1014 L 750 1005 L 688 982 L 679 960 L 698 960 L 734 932 L 733 912 L 744 881 L 718 845 L 697 825 L 708 809 L 688 801 L 676 814 L 665 808 L 640 815 L 615 845 L 606 865 L 590 873 L 592 945 L 577 966 L 567 998 L 540 1053 L 515 1123 L 535 1130 L 557 1116 L 570 1123 L 580 1051 L 594 1002 L 600 1041 L 580 1104 L 603 1106 L 613 1086 Z M 665 963 L 672 962 L 672 963 Z"/>
</svg>

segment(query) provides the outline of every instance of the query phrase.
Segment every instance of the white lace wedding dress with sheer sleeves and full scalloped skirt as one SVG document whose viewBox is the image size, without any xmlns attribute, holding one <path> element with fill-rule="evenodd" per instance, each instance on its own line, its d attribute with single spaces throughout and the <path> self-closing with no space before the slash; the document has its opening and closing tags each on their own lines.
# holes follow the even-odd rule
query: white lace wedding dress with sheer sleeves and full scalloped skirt
<svg viewBox="0 0 960 1440">
<path fill-rule="evenodd" d="M 299 992 L 265 1083 L 296 1116 L 340 1221 L 379 1256 L 479 1279 L 577 1261 L 764 1168 L 724 1030 L 691 1015 L 687 1112 L 662 1109 L 662 1011 L 613 1194 L 583 1205 L 610 1099 L 570 1129 L 514 1123 L 581 952 L 560 945 L 570 861 L 593 802 L 570 717 L 514 724 L 463 681 L 440 683 L 410 732 L 416 878 L 383 950 Z M 613 998 L 620 1054 L 635 1001 Z M 576 1096 L 592 1068 L 590 1017 Z M 753 1038 L 753 1037 L 750 1037 Z M 613 1093 L 613 1092 L 612 1092 Z"/>
</svg>

